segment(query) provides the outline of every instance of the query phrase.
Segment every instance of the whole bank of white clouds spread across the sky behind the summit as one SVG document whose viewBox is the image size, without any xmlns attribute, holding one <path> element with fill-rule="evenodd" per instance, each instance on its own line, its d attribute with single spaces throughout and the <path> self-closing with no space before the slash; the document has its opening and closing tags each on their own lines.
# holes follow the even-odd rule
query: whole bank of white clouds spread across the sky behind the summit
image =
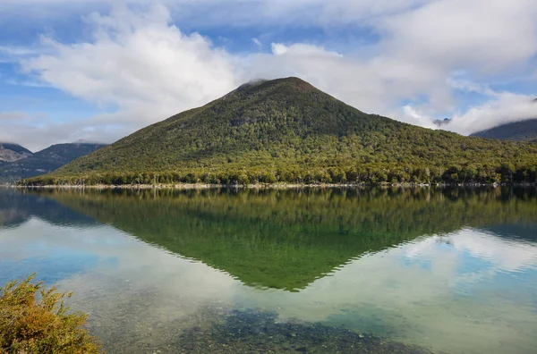
<svg viewBox="0 0 537 354">
<path fill-rule="evenodd" d="M 62 1 L 22 3 L 49 8 Z M 62 43 L 44 35 L 45 50 L 4 46 L 10 48 L 4 55 L 18 57 L 30 80 L 107 113 L 38 127 L 31 120 L 6 118 L 0 126 L 13 122 L 13 129 L 2 129 L 0 140 L 11 137 L 26 143 L 44 130 L 55 133 L 33 143 L 36 147 L 57 142 L 53 139 L 112 142 L 224 96 L 248 80 L 286 76 L 299 76 L 362 111 L 400 121 L 433 128 L 433 119 L 450 117 L 452 122 L 443 129 L 462 134 L 537 117 L 536 105 L 529 104 L 537 92 L 521 94 L 489 85 L 520 77 L 537 81 L 532 76 L 537 57 L 533 0 L 254 0 L 231 1 L 227 10 L 213 0 L 168 0 L 149 7 L 128 3 L 86 14 L 90 37 L 80 42 Z M 367 28 L 378 40 L 338 51 L 308 38 L 289 43 L 250 38 L 257 52 L 232 53 L 200 33 L 183 32 L 182 22 L 201 30 L 277 23 L 324 30 Z M 460 97 L 470 95 L 479 99 L 461 104 Z"/>
</svg>

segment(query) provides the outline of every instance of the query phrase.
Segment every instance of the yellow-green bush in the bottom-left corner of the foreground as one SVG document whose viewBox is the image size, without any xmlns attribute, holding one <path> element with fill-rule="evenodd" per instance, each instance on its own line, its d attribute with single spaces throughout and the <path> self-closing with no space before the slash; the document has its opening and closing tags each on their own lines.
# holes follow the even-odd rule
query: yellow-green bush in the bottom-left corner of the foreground
<svg viewBox="0 0 537 354">
<path fill-rule="evenodd" d="M 71 293 L 47 289 L 43 282 L 9 282 L 0 290 L 0 352 L 98 353 L 99 346 L 81 328 L 87 316 L 67 313 Z"/>
</svg>

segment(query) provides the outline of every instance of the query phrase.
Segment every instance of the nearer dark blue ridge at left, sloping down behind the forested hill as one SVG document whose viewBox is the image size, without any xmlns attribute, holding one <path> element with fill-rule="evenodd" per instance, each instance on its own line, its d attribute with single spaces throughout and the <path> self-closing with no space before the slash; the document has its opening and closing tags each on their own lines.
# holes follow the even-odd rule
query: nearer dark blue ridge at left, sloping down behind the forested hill
<svg viewBox="0 0 537 354">
<path fill-rule="evenodd" d="M 104 145 L 73 143 L 47 147 L 25 158 L 0 164 L 0 182 L 19 181 L 24 178 L 50 173 L 78 157 L 94 152 L 100 147 L 104 147 Z"/>
</svg>

